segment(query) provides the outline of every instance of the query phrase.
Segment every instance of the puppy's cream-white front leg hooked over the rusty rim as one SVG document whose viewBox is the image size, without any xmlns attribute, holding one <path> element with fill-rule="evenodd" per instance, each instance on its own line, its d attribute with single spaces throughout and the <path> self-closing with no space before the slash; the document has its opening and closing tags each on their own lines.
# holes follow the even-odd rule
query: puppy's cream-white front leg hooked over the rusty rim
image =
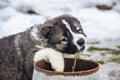
<svg viewBox="0 0 120 80">
<path fill-rule="evenodd" d="M 34 62 L 37 62 L 42 59 L 45 59 L 45 61 L 50 62 L 52 65 L 52 68 L 55 71 L 63 72 L 64 59 L 63 59 L 62 53 L 60 53 L 52 48 L 44 48 L 35 53 L 33 60 L 34 60 Z"/>
</svg>

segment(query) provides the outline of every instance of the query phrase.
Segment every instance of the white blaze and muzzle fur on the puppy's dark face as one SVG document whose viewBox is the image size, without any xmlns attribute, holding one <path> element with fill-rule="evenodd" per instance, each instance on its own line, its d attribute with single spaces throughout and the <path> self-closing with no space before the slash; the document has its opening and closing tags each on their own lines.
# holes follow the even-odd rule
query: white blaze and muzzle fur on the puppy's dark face
<svg viewBox="0 0 120 80">
<path fill-rule="evenodd" d="M 85 40 L 85 44 L 86 44 L 86 38 L 83 34 L 77 34 L 77 33 L 74 33 L 71 28 L 70 28 L 70 25 L 68 24 L 68 22 L 66 20 L 62 20 L 62 22 L 66 25 L 67 29 L 70 31 L 70 33 L 72 34 L 73 36 L 73 43 L 76 45 L 76 47 L 78 48 L 78 50 L 80 50 L 83 46 L 79 46 L 77 44 L 77 41 L 80 39 L 80 38 L 83 38 Z"/>
</svg>

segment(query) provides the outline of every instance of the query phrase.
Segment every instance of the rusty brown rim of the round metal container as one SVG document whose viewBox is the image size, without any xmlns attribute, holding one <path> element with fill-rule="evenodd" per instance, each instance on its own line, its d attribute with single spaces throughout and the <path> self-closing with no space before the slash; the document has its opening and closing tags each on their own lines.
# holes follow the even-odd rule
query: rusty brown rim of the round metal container
<svg viewBox="0 0 120 80">
<path fill-rule="evenodd" d="M 96 73 L 99 70 L 99 64 L 95 61 L 92 60 L 85 60 L 85 59 L 80 59 L 83 61 L 87 61 L 87 62 L 92 62 L 95 65 L 97 65 L 95 68 L 90 69 L 90 70 L 85 70 L 85 71 L 76 71 L 76 72 L 55 72 L 55 71 L 50 71 L 50 70 L 45 70 L 45 69 L 41 69 L 39 67 L 36 66 L 36 64 L 39 61 L 45 61 L 44 59 L 39 60 L 37 62 L 34 63 L 34 69 L 36 69 L 37 71 L 41 71 L 43 73 L 45 73 L 46 75 L 52 76 L 52 75 L 63 75 L 63 76 L 87 76 L 93 73 Z"/>
</svg>

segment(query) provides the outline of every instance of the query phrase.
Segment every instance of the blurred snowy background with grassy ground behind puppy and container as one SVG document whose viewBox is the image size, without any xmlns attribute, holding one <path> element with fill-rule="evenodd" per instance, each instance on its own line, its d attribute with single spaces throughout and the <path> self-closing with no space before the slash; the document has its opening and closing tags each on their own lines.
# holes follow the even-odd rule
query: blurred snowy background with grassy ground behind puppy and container
<svg viewBox="0 0 120 80">
<path fill-rule="evenodd" d="M 120 80 L 120 0 L 0 0 L 0 38 L 71 14 L 87 34 L 83 58 L 100 64 L 102 80 Z"/>
</svg>

